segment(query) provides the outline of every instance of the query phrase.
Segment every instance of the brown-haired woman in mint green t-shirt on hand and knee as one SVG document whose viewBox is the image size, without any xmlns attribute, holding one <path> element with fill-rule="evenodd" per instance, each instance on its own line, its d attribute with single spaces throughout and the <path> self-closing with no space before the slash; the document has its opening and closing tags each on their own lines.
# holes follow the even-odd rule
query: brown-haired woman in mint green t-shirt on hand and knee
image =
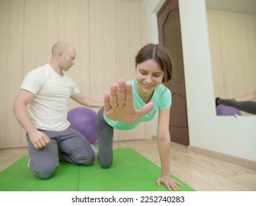
<svg viewBox="0 0 256 206">
<path fill-rule="evenodd" d="M 162 166 L 162 175 L 157 185 L 164 183 L 171 190 L 178 190 L 179 182 L 170 177 L 170 90 L 162 85 L 172 77 L 172 63 L 165 48 L 147 44 L 135 58 L 136 79 L 111 85 L 110 93 L 104 96 L 104 107 L 97 115 L 99 143 L 98 160 L 102 168 L 113 161 L 113 134 L 116 129 L 133 129 L 142 121 L 150 121 L 159 111 L 157 145 Z"/>
</svg>

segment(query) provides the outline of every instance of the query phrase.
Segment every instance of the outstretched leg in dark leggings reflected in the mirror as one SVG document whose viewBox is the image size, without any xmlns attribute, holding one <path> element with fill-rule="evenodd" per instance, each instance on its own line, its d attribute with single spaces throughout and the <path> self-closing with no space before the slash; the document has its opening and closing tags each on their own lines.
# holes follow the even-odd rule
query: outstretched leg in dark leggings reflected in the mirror
<svg viewBox="0 0 256 206">
<path fill-rule="evenodd" d="M 218 104 L 235 107 L 246 113 L 256 114 L 256 102 L 254 101 L 237 102 L 235 99 L 218 99 Z"/>
</svg>

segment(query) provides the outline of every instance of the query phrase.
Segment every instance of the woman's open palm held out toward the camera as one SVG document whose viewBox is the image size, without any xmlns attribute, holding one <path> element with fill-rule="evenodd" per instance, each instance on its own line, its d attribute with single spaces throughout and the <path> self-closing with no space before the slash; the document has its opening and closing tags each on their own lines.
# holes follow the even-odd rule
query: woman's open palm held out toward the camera
<svg viewBox="0 0 256 206">
<path fill-rule="evenodd" d="M 126 84 L 123 79 L 118 82 L 118 85 L 111 85 L 110 93 L 106 93 L 104 96 L 105 116 L 126 124 L 133 124 L 139 118 L 148 114 L 153 107 L 153 102 L 149 102 L 136 110 L 132 85 Z"/>
</svg>

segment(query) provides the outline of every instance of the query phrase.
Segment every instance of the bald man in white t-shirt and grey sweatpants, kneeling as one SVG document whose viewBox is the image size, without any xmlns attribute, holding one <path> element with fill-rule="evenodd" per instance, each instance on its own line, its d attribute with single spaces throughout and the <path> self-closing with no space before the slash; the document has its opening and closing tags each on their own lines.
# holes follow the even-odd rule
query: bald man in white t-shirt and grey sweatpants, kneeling
<svg viewBox="0 0 256 206">
<path fill-rule="evenodd" d="M 91 145 L 67 120 L 69 97 L 86 107 L 102 107 L 83 96 L 63 74 L 75 64 L 75 48 L 66 42 L 52 47 L 50 63 L 30 71 L 13 105 L 18 122 L 27 131 L 30 169 L 41 179 L 55 174 L 59 160 L 89 166 L 94 163 Z"/>
</svg>

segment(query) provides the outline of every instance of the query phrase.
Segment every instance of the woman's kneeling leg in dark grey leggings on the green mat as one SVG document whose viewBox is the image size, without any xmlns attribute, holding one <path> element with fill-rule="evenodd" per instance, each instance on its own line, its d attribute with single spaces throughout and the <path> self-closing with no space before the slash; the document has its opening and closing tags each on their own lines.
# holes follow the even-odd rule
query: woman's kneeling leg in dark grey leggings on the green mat
<svg viewBox="0 0 256 206">
<path fill-rule="evenodd" d="M 97 113 L 97 140 L 99 143 L 98 162 L 102 168 L 109 168 L 113 162 L 114 128 L 103 118 L 104 107 Z"/>
</svg>

